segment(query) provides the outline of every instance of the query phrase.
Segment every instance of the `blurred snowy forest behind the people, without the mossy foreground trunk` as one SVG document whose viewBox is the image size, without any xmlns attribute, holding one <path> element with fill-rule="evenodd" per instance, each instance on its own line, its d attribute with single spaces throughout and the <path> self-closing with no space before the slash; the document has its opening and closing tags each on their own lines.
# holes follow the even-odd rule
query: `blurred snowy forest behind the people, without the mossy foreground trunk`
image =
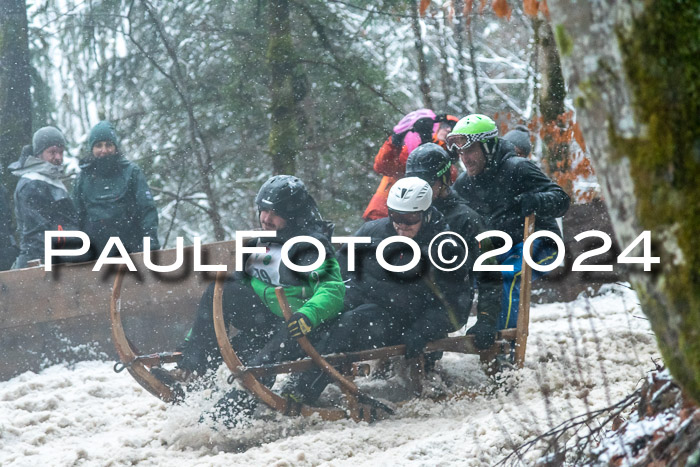
<svg viewBox="0 0 700 467">
<path fill-rule="evenodd" d="M 491 115 L 504 132 L 527 124 L 545 170 L 570 193 L 579 189 L 579 199 L 594 194 L 571 183 L 592 171 L 568 144 L 573 106 L 552 30 L 522 5 L 10 3 L 18 21 L 3 47 L 17 43 L 14 64 L 25 67 L 6 69 L 0 82 L 16 80 L 31 96 L 25 109 L 7 109 L 23 128 L 5 132 L 2 165 L 18 158 L 32 130 L 51 124 L 68 136 L 74 173 L 89 129 L 110 120 L 154 191 L 166 247 L 177 236 L 224 240 L 257 225 L 252 200 L 275 173 L 299 176 L 337 232 L 354 232 L 379 182 L 374 155 L 392 126 L 422 107 Z M 16 34 L 23 21 L 26 59 Z M 5 174 L 6 186 L 13 179 Z"/>
</svg>

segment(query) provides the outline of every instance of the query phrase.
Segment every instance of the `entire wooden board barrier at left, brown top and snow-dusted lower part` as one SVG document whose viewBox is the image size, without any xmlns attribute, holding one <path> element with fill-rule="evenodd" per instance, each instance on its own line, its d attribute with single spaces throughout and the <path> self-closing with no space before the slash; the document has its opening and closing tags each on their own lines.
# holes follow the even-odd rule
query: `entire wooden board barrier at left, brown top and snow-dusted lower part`
<svg viewBox="0 0 700 467">
<path fill-rule="evenodd" d="M 202 263 L 227 264 L 232 270 L 234 246 L 235 242 L 203 245 Z M 213 273 L 192 272 L 192 251 L 184 249 L 180 272 L 167 274 L 147 271 L 142 253 L 131 255 L 138 272 L 124 277 L 124 326 L 144 352 L 181 343 L 199 298 L 214 279 Z M 172 264 L 175 250 L 153 256 L 156 264 Z M 99 352 L 113 358 L 106 310 L 117 268 L 106 265 L 93 272 L 93 267 L 91 262 L 56 265 L 52 272 L 43 266 L 0 272 L 0 381 L 38 371 L 47 362 L 96 358 Z"/>
</svg>

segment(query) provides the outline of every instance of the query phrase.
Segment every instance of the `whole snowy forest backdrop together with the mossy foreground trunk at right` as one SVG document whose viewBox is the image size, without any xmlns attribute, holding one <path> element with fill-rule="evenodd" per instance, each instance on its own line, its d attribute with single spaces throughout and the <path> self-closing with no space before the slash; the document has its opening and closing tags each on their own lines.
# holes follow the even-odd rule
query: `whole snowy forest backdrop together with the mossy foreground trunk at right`
<svg viewBox="0 0 700 467">
<path fill-rule="evenodd" d="M 56 124 L 75 170 L 109 119 L 155 192 L 166 246 L 254 226 L 274 173 L 302 178 L 350 233 L 405 113 L 526 123 L 534 158 L 576 201 L 600 190 L 620 245 L 652 233 L 639 262 L 660 262 L 626 273 L 697 402 L 698 31 L 696 0 L 6 0 L 0 165 Z"/>
</svg>

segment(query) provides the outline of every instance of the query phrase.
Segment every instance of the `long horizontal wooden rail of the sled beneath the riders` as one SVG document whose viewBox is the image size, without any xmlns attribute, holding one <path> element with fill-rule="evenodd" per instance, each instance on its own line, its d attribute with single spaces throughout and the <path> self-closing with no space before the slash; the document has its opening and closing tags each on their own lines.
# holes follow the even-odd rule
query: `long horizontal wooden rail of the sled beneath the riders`
<svg viewBox="0 0 700 467">
<path fill-rule="evenodd" d="M 516 330 L 504 329 L 500 331 L 497 342 L 510 342 L 515 339 Z M 437 341 L 426 344 L 425 353 L 433 352 L 457 352 L 466 354 L 477 354 L 474 347 L 474 336 L 458 336 L 446 337 Z M 360 350 L 357 352 L 337 353 L 325 355 L 326 361 L 333 366 L 341 366 L 347 363 L 363 362 L 368 360 L 377 360 L 379 358 L 389 358 L 404 355 L 406 353 L 405 345 L 394 345 L 391 347 L 382 347 L 379 349 Z M 282 362 L 271 365 L 250 366 L 245 367 L 244 371 L 252 373 L 257 377 L 283 374 L 283 373 L 298 373 L 308 371 L 315 368 L 315 364 L 309 358 L 296 360 L 293 362 Z"/>
</svg>

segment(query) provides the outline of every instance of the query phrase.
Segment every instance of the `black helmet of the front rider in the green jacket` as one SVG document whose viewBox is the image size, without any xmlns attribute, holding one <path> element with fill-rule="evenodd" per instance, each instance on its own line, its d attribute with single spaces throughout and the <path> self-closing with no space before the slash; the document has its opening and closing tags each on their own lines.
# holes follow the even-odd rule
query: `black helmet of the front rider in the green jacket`
<svg viewBox="0 0 700 467">
<path fill-rule="evenodd" d="M 287 221 L 320 220 L 316 202 L 304 182 L 293 175 L 275 175 L 260 187 L 255 197 L 260 211 L 275 211 Z"/>
</svg>

